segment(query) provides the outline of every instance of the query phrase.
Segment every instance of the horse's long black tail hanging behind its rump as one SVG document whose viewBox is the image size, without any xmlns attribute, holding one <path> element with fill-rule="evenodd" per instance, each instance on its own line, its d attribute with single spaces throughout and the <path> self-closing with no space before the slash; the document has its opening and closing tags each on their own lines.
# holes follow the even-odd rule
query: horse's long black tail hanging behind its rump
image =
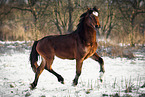
<svg viewBox="0 0 145 97">
<path fill-rule="evenodd" d="M 37 43 L 38 41 L 34 42 L 32 46 L 32 50 L 31 50 L 31 54 L 30 54 L 30 63 L 34 72 L 36 72 L 36 69 L 37 69 L 37 67 L 35 66 L 36 64 L 34 63 L 38 61 L 38 56 L 39 56 L 38 52 L 36 51 Z"/>
</svg>

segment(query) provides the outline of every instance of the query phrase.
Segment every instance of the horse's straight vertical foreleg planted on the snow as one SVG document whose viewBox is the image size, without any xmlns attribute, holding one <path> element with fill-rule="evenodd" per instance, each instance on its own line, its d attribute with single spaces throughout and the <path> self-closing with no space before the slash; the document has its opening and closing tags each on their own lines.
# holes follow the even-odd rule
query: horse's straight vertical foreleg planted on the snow
<svg viewBox="0 0 145 97">
<path fill-rule="evenodd" d="M 78 84 L 78 79 L 79 79 L 79 76 L 81 75 L 82 64 L 83 64 L 82 61 L 76 60 L 76 76 L 73 80 L 73 85 L 74 86 Z"/>
</svg>

